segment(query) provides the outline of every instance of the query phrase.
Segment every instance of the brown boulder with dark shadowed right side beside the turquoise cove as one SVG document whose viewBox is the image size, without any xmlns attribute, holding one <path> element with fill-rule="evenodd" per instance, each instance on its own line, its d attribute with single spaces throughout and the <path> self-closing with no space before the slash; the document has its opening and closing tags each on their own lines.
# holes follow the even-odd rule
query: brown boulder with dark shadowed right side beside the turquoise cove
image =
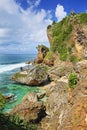
<svg viewBox="0 0 87 130">
<path fill-rule="evenodd" d="M 45 116 L 45 106 L 37 100 L 37 95 L 28 93 L 22 102 L 10 111 L 10 114 L 18 115 L 28 122 L 38 123 Z"/>
</svg>

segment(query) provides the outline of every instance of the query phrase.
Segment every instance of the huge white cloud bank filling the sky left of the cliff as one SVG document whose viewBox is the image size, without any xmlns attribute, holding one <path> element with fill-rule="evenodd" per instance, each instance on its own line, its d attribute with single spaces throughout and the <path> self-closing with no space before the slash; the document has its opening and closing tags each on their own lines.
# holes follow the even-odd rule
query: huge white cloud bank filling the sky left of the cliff
<svg viewBox="0 0 87 130">
<path fill-rule="evenodd" d="M 40 0 L 36 1 L 39 5 Z M 46 28 L 51 23 L 50 11 L 23 10 L 13 0 L 0 2 L 0 51 L 35 51 L 38 43 L 49 45 Z"/>
</svg>

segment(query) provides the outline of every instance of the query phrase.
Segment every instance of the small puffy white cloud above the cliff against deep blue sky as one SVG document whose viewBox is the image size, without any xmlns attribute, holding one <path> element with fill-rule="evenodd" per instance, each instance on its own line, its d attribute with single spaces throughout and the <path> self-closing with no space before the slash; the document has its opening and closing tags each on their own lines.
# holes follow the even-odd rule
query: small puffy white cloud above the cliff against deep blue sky
<svg viewBox="0 0 87 130">
<path fill-rule="evenodd" d="M 64 7 L 58 4 L 55 11 L 55 16 L 57 20 L 61 21 L 64 17 L 66 17 L 66 15 L 67 15 L 67 12 L 64 11 Z"/>
</svg>

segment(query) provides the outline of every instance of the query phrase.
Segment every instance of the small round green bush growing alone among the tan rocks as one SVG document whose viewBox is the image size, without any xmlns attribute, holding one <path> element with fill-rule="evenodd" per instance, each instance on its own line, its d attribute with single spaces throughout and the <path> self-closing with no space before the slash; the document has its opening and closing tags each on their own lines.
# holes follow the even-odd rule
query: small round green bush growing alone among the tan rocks
<svg viewBox="0 0 87 130">
<path fill-rule="evenodd" d="M 68 78 L 68 83 L 70 88 L 75 88 L 77 84 L 78 78 L 75 73 L 71 73 Z"/>
</svg>

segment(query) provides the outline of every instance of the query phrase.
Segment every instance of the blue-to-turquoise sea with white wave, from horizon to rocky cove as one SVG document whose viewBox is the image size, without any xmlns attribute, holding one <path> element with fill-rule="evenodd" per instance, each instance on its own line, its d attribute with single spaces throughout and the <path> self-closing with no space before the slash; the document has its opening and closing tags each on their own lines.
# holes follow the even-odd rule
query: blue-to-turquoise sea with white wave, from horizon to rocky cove
<svg viewBox="0 0 87 130">
<path fill-rule="evenodd" d="M 32 62 L 35 57 L 36 54 L 0 54 L 0 93 L 5 96 L 14 95 L 6 102 L 3 112 L 9 112 L 28 92 L 38 91 L 36 87 L 20 85 L 10 80 L 20 67 L 26 66 L 26 61 Z"/>
</svg>

